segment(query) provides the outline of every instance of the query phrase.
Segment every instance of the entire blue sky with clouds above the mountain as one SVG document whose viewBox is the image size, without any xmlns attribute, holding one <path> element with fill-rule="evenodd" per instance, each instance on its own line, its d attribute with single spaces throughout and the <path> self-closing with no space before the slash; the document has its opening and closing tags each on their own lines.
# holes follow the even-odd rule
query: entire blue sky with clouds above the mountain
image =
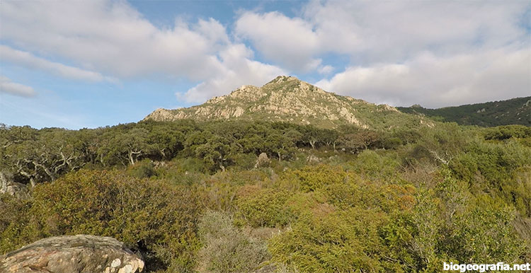
<svg viewBox="0 0 531 273">
<path fill-rule="evenodd" d="M 426 108 L 531 95 L 531 1 L 0 1 L 0 123 L 137 122 L 279 75 Z"/>
</svg>

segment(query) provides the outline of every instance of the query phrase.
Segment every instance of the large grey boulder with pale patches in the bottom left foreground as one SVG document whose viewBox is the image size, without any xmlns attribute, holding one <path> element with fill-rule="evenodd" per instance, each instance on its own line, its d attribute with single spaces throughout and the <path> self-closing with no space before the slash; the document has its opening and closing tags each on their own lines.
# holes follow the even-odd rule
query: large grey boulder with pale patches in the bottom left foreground
<svg viewBox="0 0 531 273">
<path fill-rule="evenodd" d="M 38 240 L 0 256 L 1 273 L 134 273 L 144 261 L 115 238 L 75 235 Z"/>
</svg>

